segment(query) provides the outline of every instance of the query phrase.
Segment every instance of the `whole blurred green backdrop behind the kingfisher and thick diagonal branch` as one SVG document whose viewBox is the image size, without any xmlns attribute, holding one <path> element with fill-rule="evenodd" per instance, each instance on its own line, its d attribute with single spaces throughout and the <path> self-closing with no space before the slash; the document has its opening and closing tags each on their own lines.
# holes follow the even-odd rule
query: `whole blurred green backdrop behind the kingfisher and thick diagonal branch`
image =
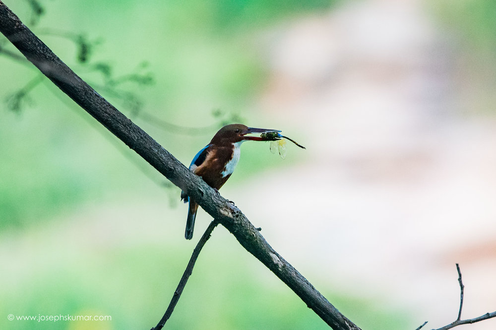
<svg viewBox="0 0 496 330">
<path fill-rule="evenodd" d="M 27 1 L 4 2 L 21 20 L 30 20 Z M 477 1 L 477 20 L 466 19 L 461 5 L 444 2 L 434 17 L 447 26 L 461 22 L 466 40 L 491 48 L 484 41 L 494 39 L 494 1 Z M 272 127 L 250 106 L 267 78 L 256 36 L 335 5 L 324 0 L 41 3 L 46 12 L 33 31 L 90 85 L 101 85 L 101 74 L 77 63 L 74 43 L 48 30 L 101 39 L 91 61 L 110 64 L 116 76 L 148 62 L 145 71 L 153 73 L 155 84 L 123 86 L 143 100 L 142 111 L 180 126 L 211 127 L 199 135 L 160 129 L 119 97 L 101 92 L 186 164 L 217 129 L 212 110 L 226 118 L 241 116 L 250 126 Z M 0 329 L 150 329 L 164 313 L 193 248 L 177 220 L 185 212 L 177 203 L 179 189 L 162 187 L 163 178 L 47 79 L 20 112 L 10 111 L 5 98 L 38 73 L 7 56 L 0 56 L 0 72 Z M 270 157 L 244 146 L 230 182 L 274 170 L 278 163 Z M 288 154 L 284 166 L 298 161 Z M 150 219 L 151 214 L 163 218 Z M 81 232 L 86 240 L 73 240 Z M 415 327 L 408 311 L 384 306 L 380 299 L 347 296 L 325 274 L 295 266 L 363 329 Z M 112 321 L 9 322 L 9 313 L 110 315 Z M 328 329 L 222 228 L 207 243 L 166 328 Z"/>
</svg>

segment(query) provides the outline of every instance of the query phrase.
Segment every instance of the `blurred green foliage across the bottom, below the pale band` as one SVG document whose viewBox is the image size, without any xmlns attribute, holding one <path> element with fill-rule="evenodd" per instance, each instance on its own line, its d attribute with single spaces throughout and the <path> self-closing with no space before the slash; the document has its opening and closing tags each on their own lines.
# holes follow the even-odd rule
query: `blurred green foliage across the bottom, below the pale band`
<svg viewBox="0 0 496 330">
<path fill-rule="evenodd" d="M 128 220 L 124 219 L 124 223 Z M 90 221 L 89 226 L 94 226 L 94 222 Z M 153 231 L 143 229 L 148 230 Z M 186 267 L 189 251 L 178 248 L 184 244 L 183 237 L 146 242 L 128 236 L 132 233 L 121 236 L 123 231 L 115 230 L 110 238 L 113 244 L 98 238 L 86 243 L 71 241 L 71 229 L 27 232 L 36 252 L 19 249 L 19 255 L 29 267 L 37 267 L 36 281 L 26 273 L 17 279 L 8 278 L 9 285 L 0 288 L 0 309 L 14 315 L 91 313 L 112 317 L 109 322 L 58 322 L 57 329 L 150 329 L 165 312 Z M 90 230 L 87 234 L 96 233 Z M 55 243 L 44 243 L 42 236 Z M 133 244 L 125 243 L 129 240 Z M 65 243 L 65 250 L 54 255 L 61 243 Z M 226 245 L 232 248 L 226 249 Z M 236 245 L 222 229 L 214 231 L 166 329 L 329 329 L 294 292 Z M 13 262 L 11 267 L 20 271 L 26 266 Z M 325 274 L 320 276 L 324 278 Z M 315 284 L 324 287 L 329 282 L 326 279 Z M 384 308 L 377 303 L 380 299 L 372 302 L 335 292 L 322 291 L 362 329 L 414 329 L 408 315 L 394 307 Z M 1 329 L 34 326 L 54 329 L 52 322 L 10 322 L 0 318 Z"/>
</svg>

